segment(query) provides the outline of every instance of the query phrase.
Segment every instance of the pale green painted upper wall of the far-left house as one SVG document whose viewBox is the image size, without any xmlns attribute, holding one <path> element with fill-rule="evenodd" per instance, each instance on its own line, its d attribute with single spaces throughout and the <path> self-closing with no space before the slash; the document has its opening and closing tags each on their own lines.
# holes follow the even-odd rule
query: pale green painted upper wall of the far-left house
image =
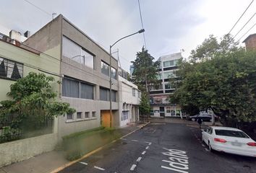
<svg viewBox="0 0 256 173">
<path fill-rule="evenodd" d="M 51 49 L 51 53 L 56 56 L 56 58 L 60 57 L 60 45 Z M 58 74 L 60 71 L 60 61 L 44 54 L 35 54 L 30 51 L 27 51 L 23 48 L 19 48 L 15 45 L 5 43 L 0 40 L 0 57 L 7 58 L 12 61 L 17 61 L 19 63 L 23 63 L 23 76 L 26 76 L 30 71 L 34 71 L 36 73 L 43 73 L 42 71 L 38 71 L 35 68 L 40 68 L 41 70 L 51 72 L 53 74 Z M 31 68 L 29 66 L 33 66 L 35 68 Z M 46 75 L 51 75 L 47 74 Z M 54 76 L 55 81 L 53 83 L 53 89 L 59 93 L 59 84 L 56 81 L 60 81 L 59 76 Z M 15 81 L 9 79 L 1 79 L 0 78 L 0 101 L 4 99 L 10 99 L 7 97 L 7 92 L 9 92 L 9 86 L 14 84 Z"/>
</svg>

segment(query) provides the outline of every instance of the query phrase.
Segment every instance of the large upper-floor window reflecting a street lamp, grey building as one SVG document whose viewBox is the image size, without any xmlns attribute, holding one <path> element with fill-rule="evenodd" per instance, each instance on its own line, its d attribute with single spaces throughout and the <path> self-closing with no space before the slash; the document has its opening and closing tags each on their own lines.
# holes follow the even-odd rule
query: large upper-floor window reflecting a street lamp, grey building
<svg viewBox="0 0 256 173">
<path fill-rule="evenodd" d="M 94 69 L 94 56 L 67 37 L 62 39 L 62 53 L 63 56 Z"/>
</svg>

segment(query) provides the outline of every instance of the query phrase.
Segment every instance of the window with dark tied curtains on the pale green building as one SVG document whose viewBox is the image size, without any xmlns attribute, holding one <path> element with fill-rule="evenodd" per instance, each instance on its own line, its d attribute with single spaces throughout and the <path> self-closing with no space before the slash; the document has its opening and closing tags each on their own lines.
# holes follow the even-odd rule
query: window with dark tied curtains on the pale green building
<svg viewBox="0 0 256 173">
<path fill-rule="evenodd" d="M 23 76 L 23 64 L 0 57 L 0 77 L 20 79 Z"/>
</svg>

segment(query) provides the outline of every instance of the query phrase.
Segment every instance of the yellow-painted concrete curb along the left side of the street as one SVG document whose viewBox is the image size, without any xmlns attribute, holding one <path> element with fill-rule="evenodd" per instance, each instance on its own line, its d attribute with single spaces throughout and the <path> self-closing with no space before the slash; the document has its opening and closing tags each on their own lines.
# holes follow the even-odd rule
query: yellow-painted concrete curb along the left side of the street
<svg viewBox="0 0 256 173">
<path fill-rule="evenodd" d="M 136 129 L 136 130 L 133 130 L 132 132 L 130 132 L 130 133 L 124 135 L 124 136 L 121 136 L 121 138 L 124 138 L 124 137 L 126 137 L 126 136 L 129 136 L 129 135 L 132 134 L 132 133 L 135 133 L 137 130 L 140 130 L 141 128 L 145 127 L 145 125 L 148 125 L 149 123 L 150 123 L 150 122 L 148 122 L 148 123 L 146 123 L 146 124 L 144 124 L 144 125 L 141 125 L 140 128 L 138 128 L 138 129 Z M 66 167 L 70 167 L 72 164 L 75 164 L 75 163 L 77 163 L 78 161 L 81 161 L 82 159 L 85 159 L 85 158 L 87 158 L 88 156 L 90 156 L 90 155 L 92 155 L 92 154 L 95 154 L 95 153 L 98 152 L 98 151 L 101 151 L 101 149 L 103 149 L 104 147 L 108 146 L 108 145 L 111 144 L 111 143 L 115 143 L 116 141 L 120 140 L 121 138 L 117 138 L 117 139 L 115 139 L 114 141 L 111 141 L 110 143 L 107 143 L 107 144 L 105 144 L 105 145 L 103 145 L 103 146 L 101 146 L 101 147 L 99 147 L 99 148 L 97 148 L 97 149 L 95 149 L 95 150 L 93 150 L 93 151 L 90 151 L 90 153 L 85 154 L 85 155 L 82 156 L 80 159 L 77 159 L 77 160 L 74 160 L 74 161 L 69 161 L 69 163 L 62 165 L 62 166 L 59 167 L 59 168 L 54 169 L 54 170 L 51 171 L 50 173 L 60 172 L 61 170 L 65 169 Z"/>
</svg>

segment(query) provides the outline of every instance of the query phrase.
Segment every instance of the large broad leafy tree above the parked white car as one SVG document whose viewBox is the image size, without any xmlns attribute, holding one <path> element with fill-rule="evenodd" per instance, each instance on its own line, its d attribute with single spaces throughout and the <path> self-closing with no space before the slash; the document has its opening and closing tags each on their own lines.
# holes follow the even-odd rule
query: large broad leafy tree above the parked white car
<svg viewBox="0 0 256 173">
<path fill-rule="evenodd" d="M 211 108 L 224 125 L 256 120 L 256 54 L 237 47 L 229 35 L 214 50 L 204 43 L 182 62 L 172 101 Z"/>
</svg>

